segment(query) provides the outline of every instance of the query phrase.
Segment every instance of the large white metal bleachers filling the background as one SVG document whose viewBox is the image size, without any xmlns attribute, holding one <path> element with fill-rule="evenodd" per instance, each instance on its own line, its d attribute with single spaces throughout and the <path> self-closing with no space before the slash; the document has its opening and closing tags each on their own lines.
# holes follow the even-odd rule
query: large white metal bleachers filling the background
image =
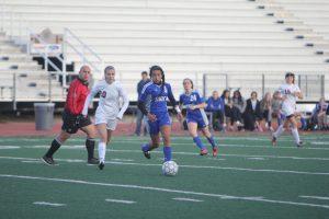
<svg viewBox="0 0 329 219">
<path fill-rule="evenodd" d="M 328 5 L 326 0 L 10 0 L 2 3 L 2 26 L 11 38 L 20 37 L 22 26 L 35 33 L 69 28 L 115 66 L 132 101 L 140 72 L 155 64 L 166 70 L 177 96 L 186 77 L 200 91 L 223 89 L 216 87 L 220 77 L 204 88 L 205 74 L 225 74 L 230 78 L 225 87 L 249 96 L 261 91 L 258 76 L 271 79 L 266 91 L 273 91 L 286 71 L 324 76 L 329 84 Z M 82 64 L 72 49 L 67 57 Z M 26 71 L 29 77 L 38 76 L 37 68 Z M 309 100 L 329 97 L 325 88 Z"/>
</svg>

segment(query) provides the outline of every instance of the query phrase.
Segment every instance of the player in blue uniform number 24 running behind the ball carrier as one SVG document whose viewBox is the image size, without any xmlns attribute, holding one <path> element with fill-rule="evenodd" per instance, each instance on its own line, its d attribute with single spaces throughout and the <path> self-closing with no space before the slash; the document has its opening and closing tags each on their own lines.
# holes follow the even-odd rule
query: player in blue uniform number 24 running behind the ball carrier
<svg viewBox="0 0 329 219">
<path fill-rule="evenodd" d="M 186 108 L 189 132 L 193 137 L 195 145 L 200 148 L 200 154 L 206 155 L 208 151 L 197 135 L 197 128 L 201 128 L 201 131 L 213 147 L 213 157 L 217 157 L 218 147 L 208 129 L 208 119 L 204 112 L 206 103 L 197 91 L 193 91 L 193 81 L 191 79 L 184 79 L 183 87 L 185 92 L 180 96 L 180 106 L 181 108 Z"/>
</svg>

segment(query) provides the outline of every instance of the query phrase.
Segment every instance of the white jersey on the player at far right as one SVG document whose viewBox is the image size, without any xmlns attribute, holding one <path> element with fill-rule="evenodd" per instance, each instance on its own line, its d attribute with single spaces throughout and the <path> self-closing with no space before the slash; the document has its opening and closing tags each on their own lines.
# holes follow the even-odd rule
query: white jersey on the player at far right
<svg viewBox="0 0 329 219">
<path fill-rule="evenodd" d="M 286 116 L 290 116 L 296 111 L 296 101 L 295 92 L 300 92 L 300 89 L 296 84 L 284 83 L 279 88 L 279 92 L 285 96 L 285 100 L 282 102 L 282 111 Z"/>
</svg>

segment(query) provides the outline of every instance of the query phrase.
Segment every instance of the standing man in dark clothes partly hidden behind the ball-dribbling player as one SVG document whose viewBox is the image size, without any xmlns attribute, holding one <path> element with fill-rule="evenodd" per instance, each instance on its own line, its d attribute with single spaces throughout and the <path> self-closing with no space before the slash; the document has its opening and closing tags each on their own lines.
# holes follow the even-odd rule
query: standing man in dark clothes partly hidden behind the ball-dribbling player
<svg viewBox="0 0 329 219">
<path fill-rule="evenodd" d="M 141 90 L 143 90 L 144 85 L 147 84 L 148 82 L 150 82 L 150 79 L 148 78 L 147 72 L 143 71 L 141 72 L 141 80 L 137 84 L 138 100 L 139 100 L 139 96 L 140 96 L 140 93 L 141 93 Z M 143 113 L 140 112 L 140 110 L 138 107 L 137 107 L 137 112 L 136 112 L 136 117 L 137 117 L 137 122 L 136 122 L 135 135 L 140 136 L 141 125 L 143 125 L 143 122 L 145 122 L 145 118 L 144 118 L 144 115 L 143 115 Z M 147 127 L 148 124 L 147 123 L 144 123 L 144 124 L 145 124 L 144 135 L 146 136 L 147 129 L 148 129 L 148 127 Z"/>
</svg>

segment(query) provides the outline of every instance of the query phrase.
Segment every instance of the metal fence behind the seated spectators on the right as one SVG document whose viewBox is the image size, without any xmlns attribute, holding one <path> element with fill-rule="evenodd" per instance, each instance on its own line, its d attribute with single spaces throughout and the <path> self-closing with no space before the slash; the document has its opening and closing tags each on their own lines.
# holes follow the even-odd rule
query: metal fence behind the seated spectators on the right
<svg viewBox="0 0 329 219">
<path fill-rule="evenodd" d="M 252 91 L 258 92 L 259 96 L 264 93 L 273 93 L 284 83 L 284 74 L 234 74 L 218 73 L 203 76 L 203 95 L 209 96 L 213 91 L 239 90 L 245 97 L 249 97 Z M 325 74 L 296 74 L 296 84 L 304 94 L 304 101 L 318 101 L 326 93 Z"/>
</svg>

